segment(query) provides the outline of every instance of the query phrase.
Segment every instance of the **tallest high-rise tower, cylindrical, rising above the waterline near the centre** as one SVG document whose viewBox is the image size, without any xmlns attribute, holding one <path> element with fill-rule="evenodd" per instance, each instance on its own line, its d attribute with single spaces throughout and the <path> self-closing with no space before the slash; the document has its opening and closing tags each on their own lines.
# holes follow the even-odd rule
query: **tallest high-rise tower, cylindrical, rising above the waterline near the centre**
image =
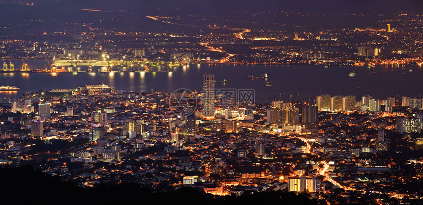
<svg viewBox="0 0 423 205">
<path fill-rule="evenodd" d="M 203 75 L 203 115 L 214 116 L 214 74 Z"/>
</svg>

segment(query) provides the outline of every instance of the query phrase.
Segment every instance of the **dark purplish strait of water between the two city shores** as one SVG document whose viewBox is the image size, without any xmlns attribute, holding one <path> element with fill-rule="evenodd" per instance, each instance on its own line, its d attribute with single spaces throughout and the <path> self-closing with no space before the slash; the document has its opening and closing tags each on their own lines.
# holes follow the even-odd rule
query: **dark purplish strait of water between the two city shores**
<svg viewBox="0 0 423 205">
<path fill-rule="evenodd" d="M 31 66 L 30 62 L 26 63 Z M 413 70 L 412 73 L 409 72 L 410 69 Z M 349 77 L 349 73 L 353 71 L 356 76 Z M 20 97 L 22 92 L 77 88 L 101 83 L 135 92 L 150 92 L 151 89 L 173 92 L 179 88 L 201 91 L 205 73 L 214 74 L 217 81 L 228 80 L 224 84 L 216 83 L 216 88 L 255 89 L 258 103 L 279 99 L 280 93 L 285 100 L 289 100 L 290 94 L 299 93 L 300 95 L 294 96 L 295 101 L 304 101 L 307 97 L 314 100 L 315 96 L 321 94 L 355 95 L 357 99 L 367 94 L 378 99 L 397 95 L 418 96 L 423 77 L 422 67 L 417 65 L 325 68 L 315 65 L 195 64 L 173 67 L 168 73 L 82 72 L 57 73 L 57 77 L 52 77 L 49 73 L 0 73 L 0 86 L 21 88 L 18 92 L 1 92 L 0 96 Z M 268 79 L 247 79 L 249 75 L 260 76 L 264 73 L 268 74 Z M 266 86 L 269 81 L 272 81 L 273 86 Z"/>
</svg>

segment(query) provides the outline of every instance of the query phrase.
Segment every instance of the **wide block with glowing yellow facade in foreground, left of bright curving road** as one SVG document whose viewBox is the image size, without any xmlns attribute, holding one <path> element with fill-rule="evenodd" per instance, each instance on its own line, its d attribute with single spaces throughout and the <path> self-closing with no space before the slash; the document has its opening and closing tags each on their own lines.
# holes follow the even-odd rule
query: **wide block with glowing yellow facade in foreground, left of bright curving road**
<svg viewBox="0 0 423 205">
<path fill-rule="evenodd" d="M 288 190 L 291 192 L 320 192 L 320 179 L 315 177 L 289 177 Z"/>
</svg>

